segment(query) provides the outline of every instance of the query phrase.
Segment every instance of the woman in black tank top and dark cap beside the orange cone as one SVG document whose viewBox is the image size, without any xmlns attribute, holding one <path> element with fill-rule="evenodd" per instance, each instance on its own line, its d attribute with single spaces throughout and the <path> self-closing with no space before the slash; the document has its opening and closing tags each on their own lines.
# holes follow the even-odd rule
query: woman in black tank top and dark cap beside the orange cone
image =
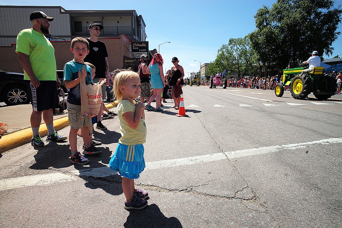
<svg viewBox="0 0 342 228">
<path fill-rule="evenodd" d="M 172 61 L 173 67 L 171 67 L 171 74 L 172 77 L 170 79 L 170 86 L 172 86 L 172 97 L 174 100 L 174 106 L 172 108 L 179 109 L 179 105 L 181 103 L 181 96 L 175 97 L 174 96 L 174 87 L 176 86 L 177 82 L 179 82 L 181 88 L 183 87 L 184 84 L 184 69 L 181 65 L 178 64 L 179 60 L 177 57 L 173 57 Z M 177 103 L 178 99 L 178 103 Z"/>
</svg>

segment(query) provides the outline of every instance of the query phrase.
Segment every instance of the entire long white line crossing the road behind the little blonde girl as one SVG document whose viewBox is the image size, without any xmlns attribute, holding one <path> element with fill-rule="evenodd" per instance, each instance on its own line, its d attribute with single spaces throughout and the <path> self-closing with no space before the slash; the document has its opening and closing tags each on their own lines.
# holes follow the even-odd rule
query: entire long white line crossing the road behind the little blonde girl
<svg viewBox="0 0 342 228">
<path fill-rule="evenodd" d="M 339 143 L 342 143 L 342 137 L 341 138 L 328 138 L 328 139 L 316 140 L 316 141 L 306 142 L 306 143 L 296 143 L 296 144 L 288 144 L 288 145 L 280 145 L 280 146 L 268 146 L 268 147 L 236 150 L 236 151 L 230 151 L 230 152 L 213 153 L 209 155 L 200 155 L 200 156 L 193 156 L 193 157 L 188 157 L 188 158 L 152 161 L 152 162 L 146 162 L 145 170 L 156 170 L 156 169 L 163 169 L 167 167 L 176 167 L 176 166 L 181 166 L 181 165 L 191 165 L 191 164 L 197 164 L 197 163 L 205 163 L 205 162 L 213 162 L 213 161 L 219 161 L 219 160 L 225 160 L 225 159 L 261 155 L 261 154 L 265 154 L 269 152 L 278 152 L 284 149 L 294 150 L 297 148 L 305 148 L 305 147 L 315 145 L 315 144 L 328 145 L 328 144 L 339 144 Z M 74 172 L 71 172 L 71 173 L 77 176 L 93 176 L 93 177 L 105 177 L 105 176 L 116 174 L 116 172 L 111 171 L 106 166 L 101 167 L 101 168 L 85 169 L 85 170 L 80 170 L 80 171 L 75 170 Z M 67 175 L 67 174 L 63 174 L 63 173 L 51 173 L 51 174 L 2 179 L 0 180 L 0 191 L 20 188 L 20 187 L 25 187 L 25 186 L 35 186 L 35 185 L 45 185 L 45 184 L 67 182 L 67 181 L 71 181 L 74 179 L 75 177 Z"/>
</svg>

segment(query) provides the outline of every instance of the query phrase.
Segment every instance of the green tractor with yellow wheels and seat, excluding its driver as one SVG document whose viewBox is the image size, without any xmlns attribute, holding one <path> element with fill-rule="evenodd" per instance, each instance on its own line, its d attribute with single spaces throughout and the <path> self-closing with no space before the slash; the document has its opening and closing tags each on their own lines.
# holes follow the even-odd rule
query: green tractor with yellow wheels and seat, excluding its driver
<svg viewBox="0 0 342 228">
<path fill-rule="evenodd" d="M 292 62 L 290 62 L 290 67 Z M 284 85 L 290 86 L 294 99 L 305 99 L 311 92 L 320 100 L 326 100 L 335 95 L 337 90 L 336 79 L 324 73 L 324 67 L 314 67 L 309 73 L 302 73 L 303 67 L 284 69 L 282 83 L 276 84 L 274 93 L 277 97 L 284 94 Z"/>
</svg>

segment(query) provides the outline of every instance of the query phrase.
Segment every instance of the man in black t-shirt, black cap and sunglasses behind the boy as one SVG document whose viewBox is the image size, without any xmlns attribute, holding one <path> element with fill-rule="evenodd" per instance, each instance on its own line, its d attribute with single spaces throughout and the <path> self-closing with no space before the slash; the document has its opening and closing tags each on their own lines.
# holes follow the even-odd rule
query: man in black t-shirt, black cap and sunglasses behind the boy
<svg viewBox="0 0 342 228">
<path fill-rule="evenodd" d="M 84 58 L 84 62 L 91 63 L 96 68 L 96 74 L 93 79 L 94 83 L 97 83 L 100 81 L 101 78 L 106 78 L 106 84 L 102 85 L 102 99 L 106 98 L 106 85 L 109 82 L 109 68 L 108 68 L 108 53 L 107 48 L 104 42 L 97 39 L 97 37 L 100 35 L 100 31 L 103 29 L 103 26 L 97 23 L 91 23 L 89 25 L 89 33 L 90 38 L 87 38 L 89 42 L 89 54 Z M 105 130 L 107 129 L 102 123 L 101 123 L 101 116 L 102 116 L 102 110 L 104 109 L 104 104 L 102 103 L 101 110 L 97 115 L 97 129 Z M 113 115 L 116 113 L 110 112 Z M 113 117 L 111 117 L 113 118 Z"/>
</svg>

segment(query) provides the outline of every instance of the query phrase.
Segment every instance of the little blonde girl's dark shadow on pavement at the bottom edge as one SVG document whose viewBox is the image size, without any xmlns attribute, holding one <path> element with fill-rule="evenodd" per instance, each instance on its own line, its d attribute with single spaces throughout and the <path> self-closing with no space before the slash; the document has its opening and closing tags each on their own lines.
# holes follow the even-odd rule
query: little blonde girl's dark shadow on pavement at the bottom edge
<svg viewBox="0 0 342 228">
<path fill-rule="evenodd" d="M 125 228 L 163 227 L 182 228 L 182 224 L 175 217 L 165 217 L 156 204 L 151 204 L 141 210 L 130 210 Z"/>
</svg>

